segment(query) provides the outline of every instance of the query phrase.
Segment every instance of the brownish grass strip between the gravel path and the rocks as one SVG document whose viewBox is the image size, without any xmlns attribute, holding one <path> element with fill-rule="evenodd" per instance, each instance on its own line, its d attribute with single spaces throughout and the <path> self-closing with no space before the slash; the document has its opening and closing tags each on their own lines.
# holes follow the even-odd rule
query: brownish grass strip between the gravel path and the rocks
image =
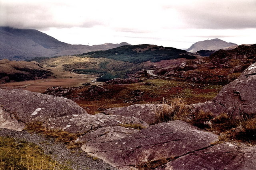
<svg viewBox="0 0 256 170">
<path fill-rule="evenodd" d="M 67 145 L 68 149 L 81 147 L 83 143 L 75 142 L 78 134 L 68 133 L 60 129 L 48 129 L 41 122 L 32 121 L 26 124 L 26 130 L 30 132 L 40 133 L 46 137 L 52 137 L 56 142 L 61 142 Z"/>
</svg>

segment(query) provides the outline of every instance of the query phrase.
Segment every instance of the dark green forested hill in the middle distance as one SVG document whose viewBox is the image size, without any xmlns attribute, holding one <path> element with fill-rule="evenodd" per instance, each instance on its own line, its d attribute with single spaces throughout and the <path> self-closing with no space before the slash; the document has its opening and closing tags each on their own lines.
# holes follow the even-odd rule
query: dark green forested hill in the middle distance
<svg viewBox="0 0 256 170">
<path fill-rule="evenodd" d="M 146 61 L 157 62 L 177 58 L 195 57 L 189 55 L 185 50 L 157 45 L 125 45 L 106 51 L 92 51 L 78 55 L 79 57 L 107 58 L 130 63 L 142 63 Z"/>
</svg>

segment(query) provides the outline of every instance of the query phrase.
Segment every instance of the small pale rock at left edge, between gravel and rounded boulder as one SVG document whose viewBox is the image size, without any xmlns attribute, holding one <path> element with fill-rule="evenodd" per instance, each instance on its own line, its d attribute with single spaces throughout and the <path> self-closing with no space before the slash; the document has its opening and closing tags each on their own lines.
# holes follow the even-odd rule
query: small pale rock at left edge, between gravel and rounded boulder
<svg viewBox="0 0 256 170">
<path fill-rule="evenodd" d="M 0 106 L 0 128 L 22 131 L 25 128 L 25 123 L 18 122 L 8 111 Z"/>
</svg>

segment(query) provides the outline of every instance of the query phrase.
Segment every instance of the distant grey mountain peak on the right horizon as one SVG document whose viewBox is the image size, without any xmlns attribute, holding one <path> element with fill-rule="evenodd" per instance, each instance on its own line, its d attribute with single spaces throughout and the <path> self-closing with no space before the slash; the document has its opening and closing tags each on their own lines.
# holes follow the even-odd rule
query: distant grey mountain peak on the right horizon
<svg viewBox="0 0 256 170">
<path fill-rule="evenodd" d="M 224 49 L 226 47 L 230 47 L 233 45 L 237 45 L 234 43 L 227 43 L 226 41 L 223 41 L 221 39 L 210 39 L 210 40 L 205 40 L 205 41 L 198 41 L 191 45 L 190 48 L 186 49 L 186 51 L 195 53 L 196 51 L 199 50 L 219 50 L 219 49 Z"/>
</svg>

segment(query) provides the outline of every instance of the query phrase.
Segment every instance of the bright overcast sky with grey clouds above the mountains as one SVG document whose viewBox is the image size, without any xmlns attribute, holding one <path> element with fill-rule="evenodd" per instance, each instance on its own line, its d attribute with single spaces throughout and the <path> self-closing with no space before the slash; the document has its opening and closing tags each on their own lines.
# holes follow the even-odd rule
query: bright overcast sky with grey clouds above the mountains
<svg viewBox="0 0 256 170">
<path fill-rule="evenodd" d="M 220 38 L 256 43 L 256 0 L 0 0 L 0 26 L 70 44 L 127 42 L 189 48 Z"/>
</svg>

